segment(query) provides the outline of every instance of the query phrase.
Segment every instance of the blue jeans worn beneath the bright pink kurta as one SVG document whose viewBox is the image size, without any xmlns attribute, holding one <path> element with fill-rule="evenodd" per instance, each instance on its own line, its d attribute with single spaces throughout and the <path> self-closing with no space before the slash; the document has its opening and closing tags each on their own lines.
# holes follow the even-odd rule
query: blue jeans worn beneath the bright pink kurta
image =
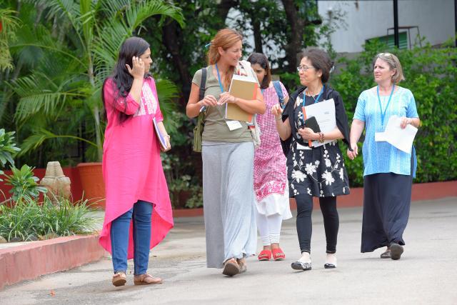
<svg viewBox="0 0 457 305">
<path fill-rule="evenodd" d="M 134 207 L 111 222 L 111 255 L 114 273 L 127 271 L 130 222 L 134 222 L 134 274 L 148 270 L 149 246 L 151 245 L 152 204 L 136 201 Z"/>
</svg>

